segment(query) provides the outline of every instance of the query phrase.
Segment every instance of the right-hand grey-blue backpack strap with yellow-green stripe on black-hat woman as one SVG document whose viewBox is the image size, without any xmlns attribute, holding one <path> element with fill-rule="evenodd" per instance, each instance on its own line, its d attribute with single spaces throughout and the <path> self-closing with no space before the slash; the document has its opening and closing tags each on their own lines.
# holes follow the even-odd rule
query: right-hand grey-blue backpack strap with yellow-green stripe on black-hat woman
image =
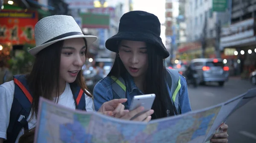
<svg viewBox="0 0 256 143">
<path fill-rule="evenodd" d="M 174 103 L 175 108 L 177 109 L 178 112 L 179 110 L 179 90 L 181 88 L 180 84 L 180 74 L 177 70 L 175 69 L 166 69 L 166 80 L 168 87 L 172 93 L 172 101 Z"/>
</svg>

